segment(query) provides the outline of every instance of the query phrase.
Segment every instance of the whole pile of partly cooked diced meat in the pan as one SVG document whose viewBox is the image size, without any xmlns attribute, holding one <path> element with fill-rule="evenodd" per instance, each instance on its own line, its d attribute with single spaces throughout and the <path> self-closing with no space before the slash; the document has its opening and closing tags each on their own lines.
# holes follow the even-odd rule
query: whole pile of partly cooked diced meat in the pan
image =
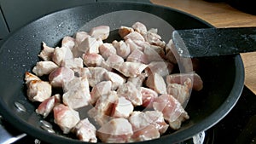
<svg viewBox="0 0 256 144">
<path fill-rule="evenodd" d="M 104 43 L 109 31 L 76 32 L 56 48 L 43 42 L 41 61 L 25 74 L 28 99 L 41 102 L 36 112 L 53 113 L 63 134 L 80 141 L 148 141 L 178 130 L 189 118 L 184 107 L 191 91 L 202 89 L 189 60 L 178 57 L 172 39 L 165 43 L 141 22 L 120 26 L 123 39 Z M 173 73 L 177 63 L 186 71 Z M 90 107 L 87 118 L 80 118 L 81 107 Z"/>
</svg>

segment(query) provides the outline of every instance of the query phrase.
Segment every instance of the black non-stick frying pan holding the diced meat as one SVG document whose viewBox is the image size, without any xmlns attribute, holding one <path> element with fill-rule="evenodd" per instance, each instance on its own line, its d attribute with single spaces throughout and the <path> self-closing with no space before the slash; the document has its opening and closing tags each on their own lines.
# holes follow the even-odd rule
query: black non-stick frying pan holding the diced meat
<svg viewBox="0 0 256 144">
<path fill-rule="evenodd" d="M 28 135 L 49 143 L 82 143 L 62 135 L 61 130 L 54 126 L 55 134 L 49 134 L 40 128 L 43 119 L 35 112 L 37 105 L 26 98 L 24 73 L 31 72 L 41 50 L 42 41 L 49 46 L 57 46 L 64 36 L 72 36 L 80 27 L 102 14 L 115 11 L 132 10 L 154 14 L 174 29 L 212 27 L 207 22 L 193 15 L 176 9 L 153 5 L 150 3 L 89 3 L 83 6 L 64 9 L 48 14 L 13 32 L 1 46 L 0 52 L 0 113 L 10 124 Z M 119 17 L 112 21 L 130 21 L 135 15 Z M 147 17 L 137 18 L 144 20 Z M 130 21 L 134 23 L 135 21 Z M 108 25 L 108 24 L 106 24 Z M 131 26 L 127 23 L 126 26 Z M 154 26 L 154 24 L 152 24 Z M 161 26 L 155 27 L 160 29 Z M 164 30 L 163 32 L 170 30 Z M 190 119 L 185 121 L 180 130 L 168 130 L 166 135 L 152 141 L 141 143 L 177 143 L 187 140 L 203 130 L 211 128 L 230 112 L 238 101 L 244 84 L 244 67 L 240 55 L 219 56 L 199 59 L 197 71 L 204 81 L 200 92 L 192 92 L 186 111 Z M 26 108 L 22 112 L 15 107 L 19 102 Z M 50 119 L 48 119 L 50 121 Z"/>
</svg>

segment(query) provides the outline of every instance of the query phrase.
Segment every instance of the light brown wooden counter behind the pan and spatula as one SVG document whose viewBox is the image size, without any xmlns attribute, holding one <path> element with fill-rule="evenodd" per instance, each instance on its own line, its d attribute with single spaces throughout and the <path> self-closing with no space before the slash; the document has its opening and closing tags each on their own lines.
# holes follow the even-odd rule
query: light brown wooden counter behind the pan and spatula
<svg viewBox="0 0 256 144">
<path fill-rule="evenodd" d="M 193 14 L 215 27 L 256 26 L 256 15 L 246 14 L 227 3 L 203 0 L 151 0 L 152 3 L 172 7 Z M 245 85 L 256 94 L 256 52 L 241 54 L 245 66 Z"/>
</svg>

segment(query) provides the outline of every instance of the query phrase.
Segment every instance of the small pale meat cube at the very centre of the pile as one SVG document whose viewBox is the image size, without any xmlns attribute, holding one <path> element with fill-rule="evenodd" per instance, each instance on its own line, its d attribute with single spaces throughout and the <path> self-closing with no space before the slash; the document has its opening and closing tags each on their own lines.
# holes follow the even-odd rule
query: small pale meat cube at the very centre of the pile
<svg viewBox="0 0 256 144">
<path fill-rule="evenodd" d="M 108 81 L 111 81 L 111 89 L 118 89 L 120 85 L 125 83 L 125 78 L 122 78 L 119 74 L 115 72 L 105 72 L 104 78 Z"/>
</svg>

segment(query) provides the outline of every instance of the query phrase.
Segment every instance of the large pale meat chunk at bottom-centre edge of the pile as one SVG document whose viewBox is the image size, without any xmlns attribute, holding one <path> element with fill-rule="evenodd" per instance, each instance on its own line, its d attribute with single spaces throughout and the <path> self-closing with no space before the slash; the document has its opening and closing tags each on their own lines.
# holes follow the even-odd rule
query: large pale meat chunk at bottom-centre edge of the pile
<svg viewBox="0 0 256 144">
<path fill-rule="evenodd" d="M 125 118 L 113 118 L 97 131 L 99 139 L 106 143 L 128 142 L 132 134 L 131 124 Z"/>
</svg>

